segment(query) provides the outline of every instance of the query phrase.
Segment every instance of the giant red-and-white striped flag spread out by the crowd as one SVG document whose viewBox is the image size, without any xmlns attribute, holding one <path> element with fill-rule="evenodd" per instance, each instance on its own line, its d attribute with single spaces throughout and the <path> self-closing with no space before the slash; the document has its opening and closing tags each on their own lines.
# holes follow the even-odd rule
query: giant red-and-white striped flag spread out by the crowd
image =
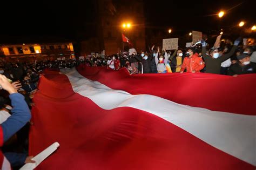
<svg viewBox="0 0 256 170">
<path fill-rule="evenodd" d="M 32 109 L 37 169 L 255 169 L 256 74 L 45 71 Z"/>
</svg>

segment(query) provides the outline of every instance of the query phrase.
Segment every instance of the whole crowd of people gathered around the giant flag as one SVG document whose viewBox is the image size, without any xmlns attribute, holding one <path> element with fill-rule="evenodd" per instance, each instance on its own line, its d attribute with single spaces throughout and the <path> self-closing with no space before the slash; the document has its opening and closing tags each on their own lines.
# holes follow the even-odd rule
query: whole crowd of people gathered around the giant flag
<svg viewBox="0 0 256 170">
<path fill-rule="evenodd" d="M 28 132 L 32 98 L 42 71 L 76 67 L 79 64 L 101 66 L 130 74 L 205 72 L 238 76 L 256 73 L 256 48 L 243 45 L 241 39 L 210 48 L 205 40 L 186 49 L 166 50 L 152 46 L 150 52 L 123 52 L 111 56 L 90 56 L 80 60 L 45 60 L 34 63 L 0 61 L 0 140 L 3 155 L 12 167 L 34 162 L 28 155 Z M 1 136 L 2 134 L 2 136 Z M 13 147 L 16 146 L 16 147 Z"/>
</svg>

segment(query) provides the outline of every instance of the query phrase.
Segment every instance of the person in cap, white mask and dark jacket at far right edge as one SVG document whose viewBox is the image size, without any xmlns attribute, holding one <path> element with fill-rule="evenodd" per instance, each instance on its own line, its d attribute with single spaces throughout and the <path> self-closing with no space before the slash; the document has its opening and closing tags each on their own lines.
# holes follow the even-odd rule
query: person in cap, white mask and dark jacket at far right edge
<svg viewBox="0 0 256 170">
<path fill-rule="evenodd" d="M 251 57 L 247 53 L 242 53 L 237 59 L 239 62 L 228 69 L 228 75 L 237 77 L 239 74 L 256 73 L 256 63 L 250 61 Z"/>
</svg>

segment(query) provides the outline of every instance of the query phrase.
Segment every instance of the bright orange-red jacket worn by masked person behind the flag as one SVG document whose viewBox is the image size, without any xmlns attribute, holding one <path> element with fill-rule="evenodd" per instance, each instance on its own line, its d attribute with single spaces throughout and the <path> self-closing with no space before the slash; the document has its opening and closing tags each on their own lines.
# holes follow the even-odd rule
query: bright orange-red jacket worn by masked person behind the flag
<svg viewBox="0 0 256 170">
<path fill-rule="evenodd" d="M 205 64 L 203 59 L 198 57 L 198 53 L 195 53 L 191 58 L 185 57 L 183 64 L 181 66 L 180 71 L 184 71 L 187 69 L 187 72 L 196 71 L 199 72 L 200 70 L 204 69 Z"/>
</svg>

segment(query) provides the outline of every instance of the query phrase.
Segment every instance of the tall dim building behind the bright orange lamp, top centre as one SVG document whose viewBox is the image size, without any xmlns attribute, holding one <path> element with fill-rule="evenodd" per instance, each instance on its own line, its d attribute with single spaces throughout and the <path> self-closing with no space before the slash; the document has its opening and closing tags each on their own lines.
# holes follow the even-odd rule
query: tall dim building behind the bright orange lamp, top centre
<svg viewBox="0 0 256 170">
<path fill-rule="evenodd" d="M 97 37 L 80 42 L 81 55 L 92 51 L 105 50 L 112 55 L 127 49 L 128 44 L 122 43 L 122 33 L 128 37 L 137 50 L 145 50 L 145 19 L 142 0 L 97 0 L 94 1 L 95 31 Z M 129 28 L 123 28 L 129 23 Z"/>
</svg>

